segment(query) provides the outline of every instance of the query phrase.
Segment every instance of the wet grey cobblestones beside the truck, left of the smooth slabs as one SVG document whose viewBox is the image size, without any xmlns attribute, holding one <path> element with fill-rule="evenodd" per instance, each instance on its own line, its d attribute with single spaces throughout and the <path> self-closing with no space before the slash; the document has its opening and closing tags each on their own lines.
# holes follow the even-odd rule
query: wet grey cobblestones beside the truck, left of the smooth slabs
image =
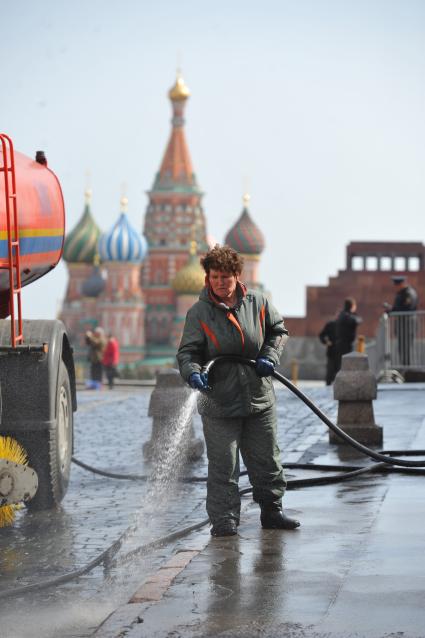
<svg viewBox="0 0 425 638">
<path fill-rule="evenodd" d="M 122 473 L 149 474 L 143 443 L 150 438 L 147 416 L 151 388 L 80 392 L 75 415 L 75 456 L 90 465 Z M 335 416 L 329 388 L 310 388 L 309 396 Z M 286 389 L 277 388 L 279 442 L 284 462 L 306 458 L 327 440 L 327 429 Z M 195 432 L 201 423 L 195 417 Z M 311 455 L 310 455 L 311 456 Z M 204 457 L 187 475 L 206 475 Z M 241 480 L 241 486 L 246 484 Z M 85 566 L 109 547 L 129 526 L 114 566 L 97 567 L 60 586 L 0 600 L 1 638 L 76 638 L 91 635 L 103 619 L 126 602 L 140 582 L 178 547 L 178 542 L 134 558 L 122 557 L 180 527 L 198 523 L 205 514 L 205 484 L 170 482 L 159 489 L 146 482 L 120 481 L 72 467 L 71 482 L 56 511 L 18 513 L 13 527 L 0 530 L 0 594 L 18 586 L 42 583 Z M 206 533 L 208 530 L 206 530 Z M 196 546 L 197 538 L 190 538 Z M 187 546 L 187 541 L 185 546 Z"/>
</svg>

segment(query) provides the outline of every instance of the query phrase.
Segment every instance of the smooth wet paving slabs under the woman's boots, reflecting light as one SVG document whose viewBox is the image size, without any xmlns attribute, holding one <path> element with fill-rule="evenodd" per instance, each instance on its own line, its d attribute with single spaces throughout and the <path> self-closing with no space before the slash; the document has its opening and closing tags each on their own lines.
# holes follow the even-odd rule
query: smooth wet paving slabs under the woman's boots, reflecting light
<svg viewBox="0 0 425 638">
<path fill-rule="evenodd" d="M 380 388 L 374 409 L 385 449 L 423 456 L 424 391 Z M 303 453 L 312 459 L 368 464 L 322 437 Z M 95 636 L 424 638 L 423 481 L 423 471 L 385 472 L 290 491 L 285 509 L 302 522 L 293 532 L 261 529 L 248 504 L 237 536 L 186 551 L 189 563 L 171 583 L 173 563 L 163 564 Z"/>
</svg>

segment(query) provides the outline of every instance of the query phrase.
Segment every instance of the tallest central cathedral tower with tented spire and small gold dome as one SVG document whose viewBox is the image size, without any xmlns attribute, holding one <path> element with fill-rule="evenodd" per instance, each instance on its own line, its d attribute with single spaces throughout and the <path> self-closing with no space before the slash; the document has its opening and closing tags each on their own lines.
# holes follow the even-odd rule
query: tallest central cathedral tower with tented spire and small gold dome
<svg viewBox="0 0 425 638">
<path fill-rule="evenodd" d="M 176 292 L 171 282 L 189 259 L 191 240 L 198 253 L 207 249 L 202 192 L 184 133 L 184 110 L 189 89 L 180 74 L 168 97 L 173 117 L 167 148 L 149 191 L 144 235 L 148 240 L 142 283 L 146 300 L 146 342 L 148 356 L 170 356 L 172 326 L 176 313 Z"/>
</svg>

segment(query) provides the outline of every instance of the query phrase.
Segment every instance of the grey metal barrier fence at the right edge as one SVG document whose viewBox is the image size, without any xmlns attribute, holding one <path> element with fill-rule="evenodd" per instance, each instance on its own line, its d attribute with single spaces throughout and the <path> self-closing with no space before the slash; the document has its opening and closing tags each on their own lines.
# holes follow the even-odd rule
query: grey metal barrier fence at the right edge
<svg viewBox="0 0 425 638">
<path fill-rule="evenodd" d="M 425 311 L 384 313 L 369 358 L 383 381 L 403 381 L 400 373 L 407 370 L 425 371 Z"/>
</svg>

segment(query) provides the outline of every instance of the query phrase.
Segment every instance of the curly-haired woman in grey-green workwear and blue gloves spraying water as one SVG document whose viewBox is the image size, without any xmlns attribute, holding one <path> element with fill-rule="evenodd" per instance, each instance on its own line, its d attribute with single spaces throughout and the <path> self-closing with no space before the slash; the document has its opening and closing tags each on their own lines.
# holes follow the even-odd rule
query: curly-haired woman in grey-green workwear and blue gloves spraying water
<svg viewBox="0 0 425 638">
<path fill-rule="evenodd" d="M 240 281 L 243 258 L 228 246 L 209 250 L 201 264 L 205 287 L 189 309 L 177 354 L 180 373 L 200 391 L 208 455 L 207 512 L 213 536 L 237 533 L 241 500 L 239 453 L 261 508 L 264 528 L 295 529 L 282 511 L 286 487 L 276 440 L 271 373 L 288 338 L 283 319 L 267 297 Z M 255 359 L 255 368 L 219 364 L 206 378 L 202 366 L 217 355 Z M 209 387 L 211 386 L 211 388 Z"/>
</svg>

